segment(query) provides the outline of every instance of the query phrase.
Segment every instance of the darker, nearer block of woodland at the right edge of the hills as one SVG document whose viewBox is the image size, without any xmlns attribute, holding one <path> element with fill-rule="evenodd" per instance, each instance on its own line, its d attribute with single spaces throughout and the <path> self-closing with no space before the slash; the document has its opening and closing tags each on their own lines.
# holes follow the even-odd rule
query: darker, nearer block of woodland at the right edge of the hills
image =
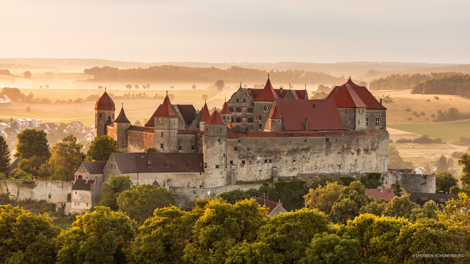
<svg viewBox="0 0 470 264">
<path fill-rule="evenodd" d="M 453 75 L 418 83 L 411 90 L 412 94 L 455 94 L 470 97 L 470 76 Z"/>
</svg>

